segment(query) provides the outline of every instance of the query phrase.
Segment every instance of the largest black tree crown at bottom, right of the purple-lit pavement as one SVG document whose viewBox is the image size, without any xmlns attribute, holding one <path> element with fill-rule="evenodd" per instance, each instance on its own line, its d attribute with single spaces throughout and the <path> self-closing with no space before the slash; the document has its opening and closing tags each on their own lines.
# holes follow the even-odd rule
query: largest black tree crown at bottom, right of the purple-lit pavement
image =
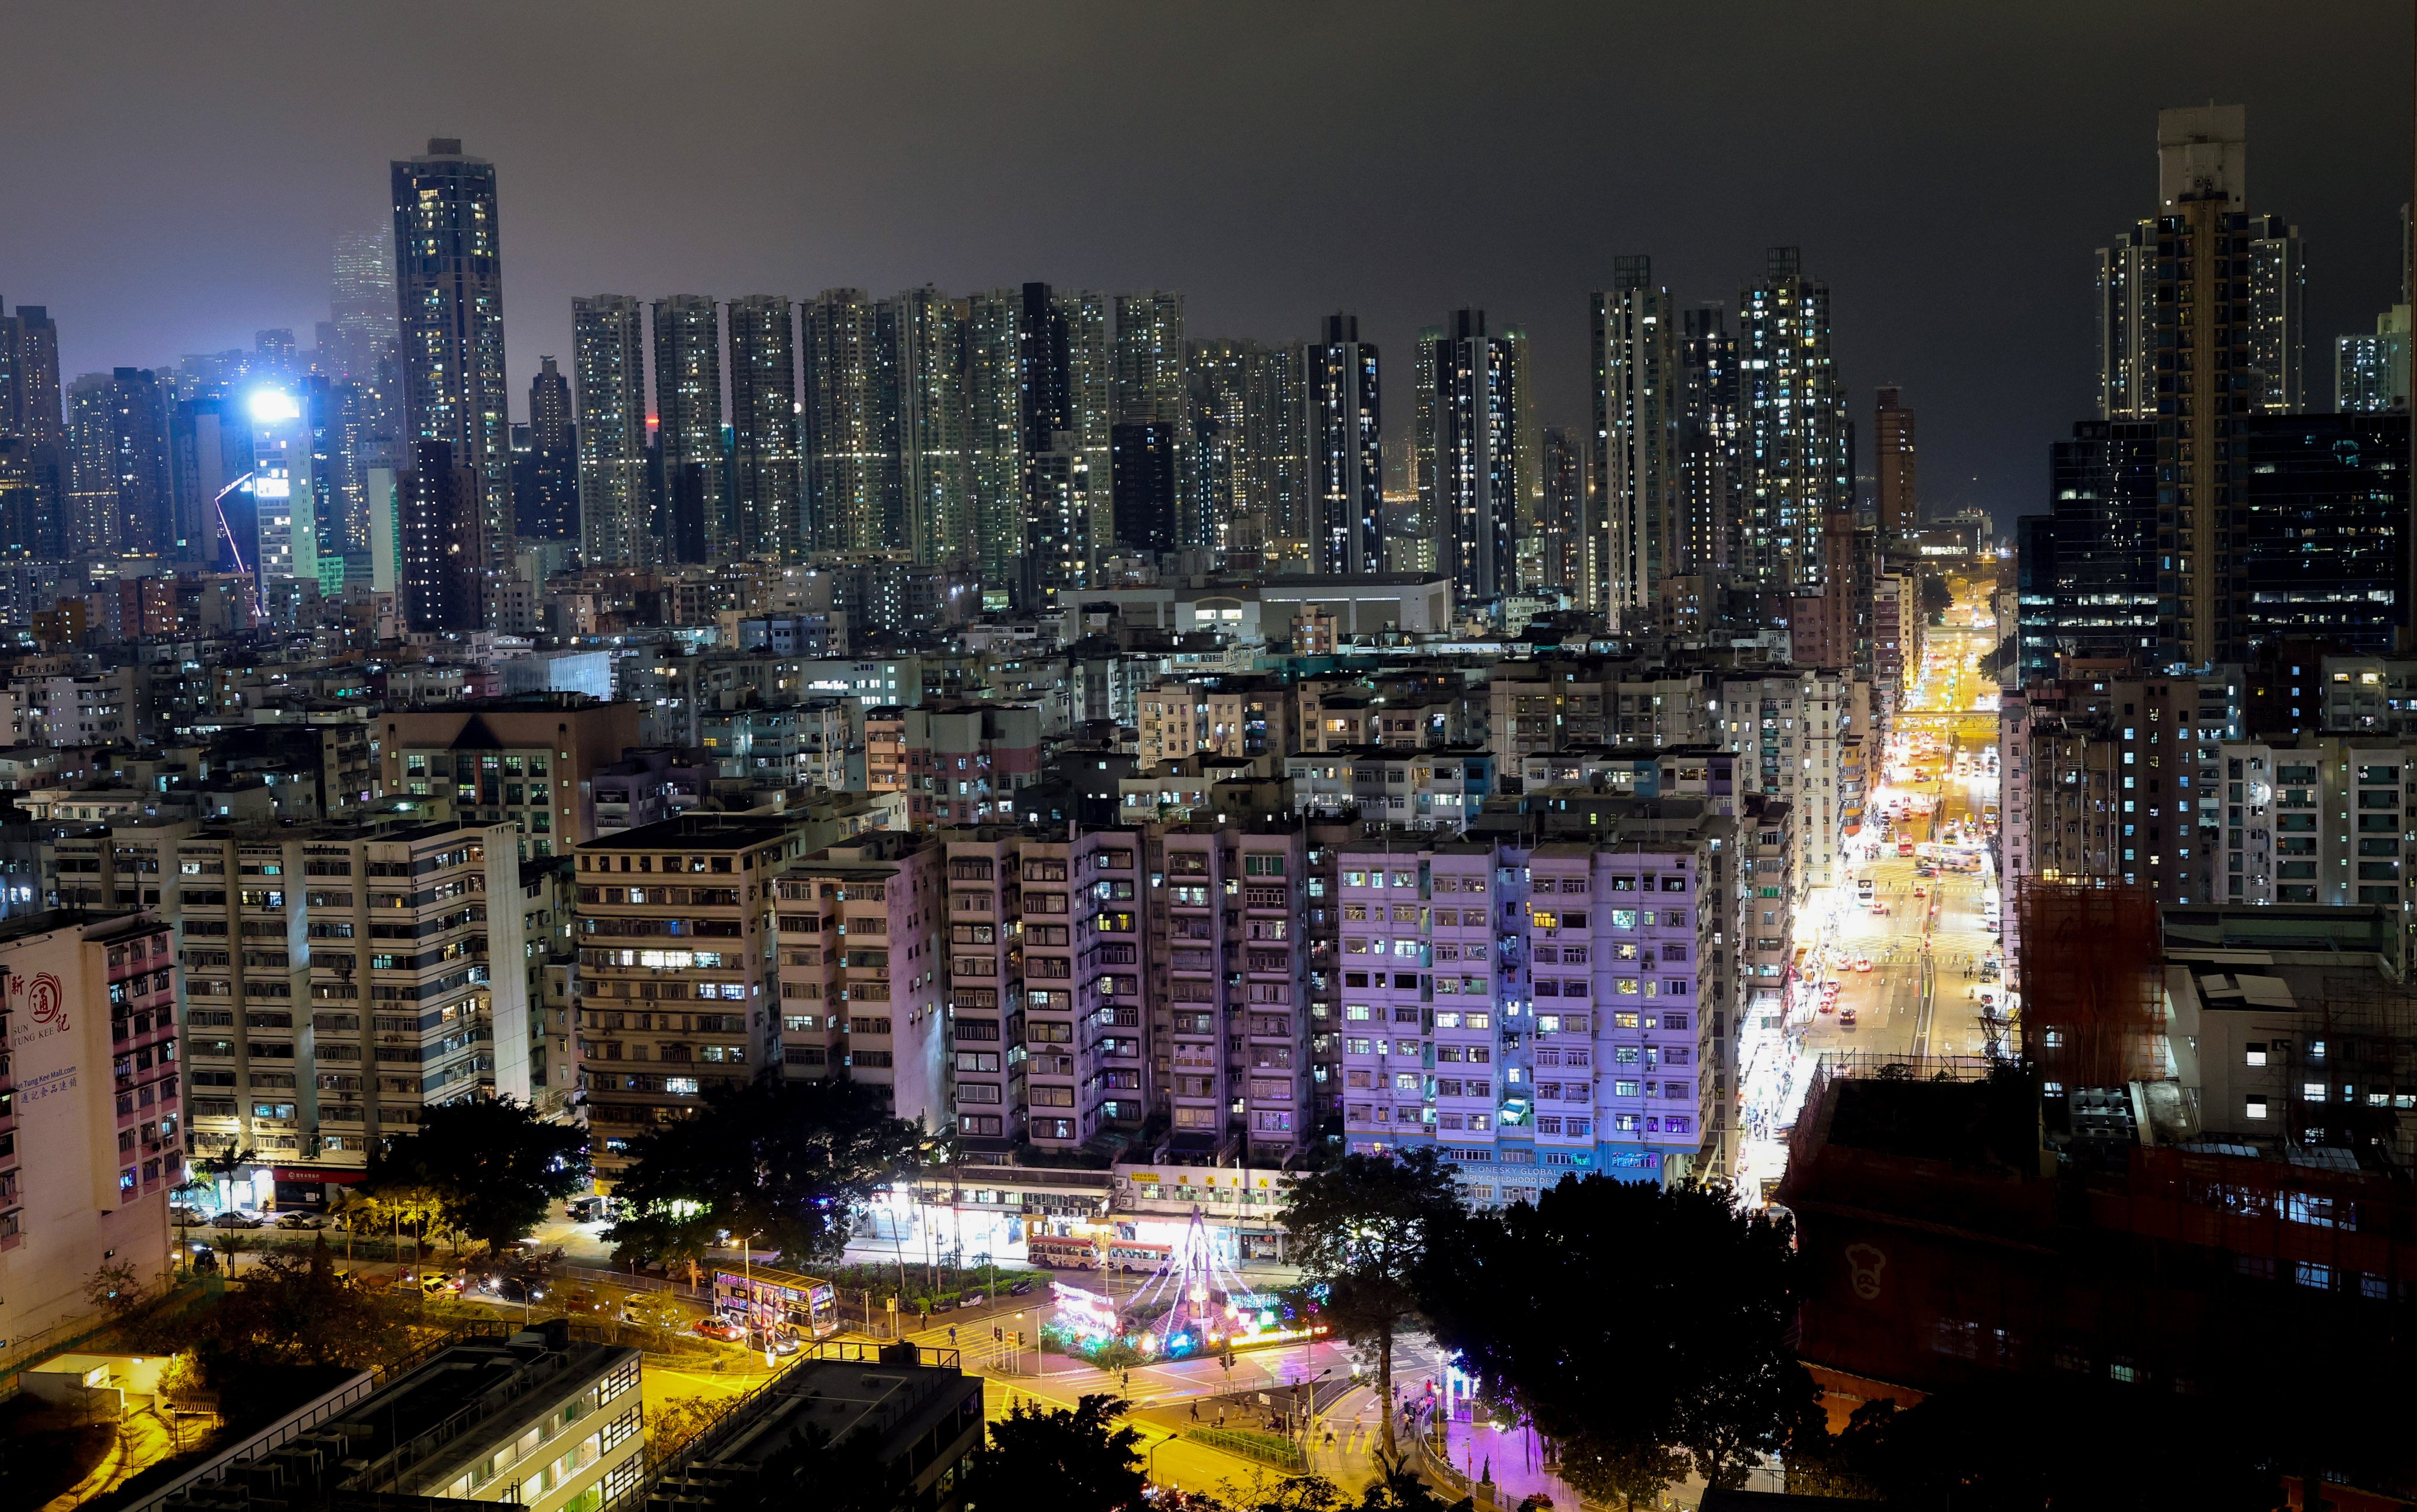
<svg viewBox="0 0 2417 1512">
<path fill-rule="evenodd" d="M 1677 1447 L 1733 1488 L 1815 1411 L 1793 1275 L 1789 1229 L 1726 1188 L 1588 1176 L 1465 1220 L 1419 1295 L 1438 1343 L 1602 1476 L 1641 1485 Z"/>
</svg>

